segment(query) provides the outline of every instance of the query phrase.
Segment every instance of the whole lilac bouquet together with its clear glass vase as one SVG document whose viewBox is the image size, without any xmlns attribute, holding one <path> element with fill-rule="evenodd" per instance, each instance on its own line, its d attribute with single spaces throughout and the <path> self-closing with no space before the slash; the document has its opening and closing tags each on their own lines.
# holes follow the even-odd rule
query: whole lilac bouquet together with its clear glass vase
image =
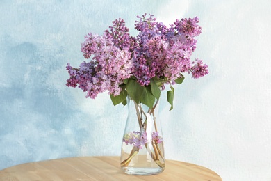
<svg viewBox="0 0 271 181">
<path fill-rule="evenodd" d="M 122 139 L 121 166 L 125 173 L 135 171 L 136 174 L 149 175 L 160 173 L 165 167 L 156 106 L 161 91 L 169 85 L 167 101 L 170 110 L 173 109 L 173 86 L 183 82 L 183 73 L 192 74 L 193 78 L 208 74 L 208 66 L 202 60 L 190 61 L 196 49 L 195 37 L 201 33 L 198 22 L 197 17 L 176 19 L 167 27 L 156 22 L 153 15 L 145 14 L 138 16 L 135 29 L 139 33 L 134 37 L 130 36 L 124 20 L 116 19 L 102 36 L 93 33 L 85 36 L 81 52 L 89 61 L 83 61 L 79 68 L 67 64 L 70 75 L 67 86 L 78 86 L 86 92 L 86 97 L 92 99 L 108 91 L 114 105 L 134 103 L 138 126 L 127 126 L 134 122 L 133 118 L 127 118 Z M 135 117 L 134 114 L 131 116 Z M 144 164 L 137 163 L 140 151 L 149 154 L 155 164 L 150 164 L 149 160 Z M 152 166 L 158 169 L 142 173 L 142 165 L 146 169 Z M 134 168 L 130 170 L 130 167 Z"/>
</svg>

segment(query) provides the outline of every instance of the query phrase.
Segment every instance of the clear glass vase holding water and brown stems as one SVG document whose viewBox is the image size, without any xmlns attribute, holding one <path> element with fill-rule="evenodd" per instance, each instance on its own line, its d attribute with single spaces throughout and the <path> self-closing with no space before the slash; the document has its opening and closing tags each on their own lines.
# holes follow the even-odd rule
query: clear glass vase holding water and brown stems
<svg viewBox="0 0 271 181">
<path fill-rule="evenodd" d="M 121 168 L 131 175 L 153 175 L 165 169 L 158 100 L 153 109 L 127 99 L 129 114 L 122 139 Z"/>
</svg>

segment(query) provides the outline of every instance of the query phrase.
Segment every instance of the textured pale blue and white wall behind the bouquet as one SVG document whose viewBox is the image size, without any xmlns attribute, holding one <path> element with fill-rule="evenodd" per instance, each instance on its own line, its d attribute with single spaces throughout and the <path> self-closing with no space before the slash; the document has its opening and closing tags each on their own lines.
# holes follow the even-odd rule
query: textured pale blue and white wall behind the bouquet
<svg viewBox="0 0 271 181">
<path fill-rule="evenodd" d="M 271 180 L 271 1 L 0 1 L 0 169 L 24 162 L 120 155 L 125 108 L 106 93 L 67 88 L 80 43 L 122 17 L 172 24 L 200 19 L 193 58 L 210 74 L 176 86 L 161 109 L 167 159 L 213 169 L 223 180 Z M 102 132 L 101 132 L 102 131 Z"/>
</svg>

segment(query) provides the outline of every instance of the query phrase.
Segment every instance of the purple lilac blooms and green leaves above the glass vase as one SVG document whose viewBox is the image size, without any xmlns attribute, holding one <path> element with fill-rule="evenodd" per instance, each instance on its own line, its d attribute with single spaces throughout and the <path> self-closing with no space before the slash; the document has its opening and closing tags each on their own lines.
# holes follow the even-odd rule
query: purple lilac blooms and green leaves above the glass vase
<svg viewBox="0 0 271 181">
<path fill-rule="evenodd" d="M 208 74 L 208 65 L 202 60 L 190 61 L 196 49 L 195 37 L 201 33 L 198 22 L 197 17 L 176 19 L 167 27 L 145 14 L 138 16 L 135 29 L 139 33 L 133 37 L 124 20 L 116 19 L 102 36 L 85 36 L 81 52 L 89 61 L 83 61 L 79 68 L 67 64 L 70 78 L 66 85 L 78 86 L 93 99 L 108 91 L 114 105 L 125 105 L 129 96 L 152 109 L 165 84 L 169 84 L 167 101 L 171 110 L 173 85 L 183 82 L 183 73 L 191 73 L 193 78 Z"/>
</svg>

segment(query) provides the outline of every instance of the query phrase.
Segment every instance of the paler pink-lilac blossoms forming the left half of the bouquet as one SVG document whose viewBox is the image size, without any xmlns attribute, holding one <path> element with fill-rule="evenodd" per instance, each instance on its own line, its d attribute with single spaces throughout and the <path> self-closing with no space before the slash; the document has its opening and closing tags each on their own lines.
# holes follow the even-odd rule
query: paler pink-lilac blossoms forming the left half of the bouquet
<svg viewBox="0 0 271 181">
<path fill-rule="evenodd" d="M 91 61 L 84 61 L 80 68 L 72 68 L 67 64 L 70 78 L 66 85 L 78 85 L 83 91 L 87 91 L 86 97 L 95 98 L 104 91 L 119 95 L 122 90 L 120 84 L 133 73 L 129 41 L 126 41 L 129 38 L 128 29 L 123 25 L 123 20 L 116 20 L 113 24 L 111 33 L 106 31 L 104 36 L 88 33 L 85 36 L 81 52 L 86 59 L 93 56 Z"/>
</svg>

